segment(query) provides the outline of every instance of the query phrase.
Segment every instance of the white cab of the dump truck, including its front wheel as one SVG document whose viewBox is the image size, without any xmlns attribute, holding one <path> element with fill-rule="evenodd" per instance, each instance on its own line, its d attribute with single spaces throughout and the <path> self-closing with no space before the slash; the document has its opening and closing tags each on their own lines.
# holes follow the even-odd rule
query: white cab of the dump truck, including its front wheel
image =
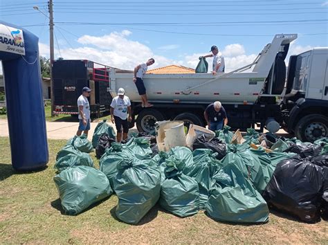
<svg viewBox="0 0 328 245">
<path fill-rule="evenodd" d="M 304 141 L 328 135 L 328 48 L 292 55 L 282 104 L 284 129 Z"/>
</svg>

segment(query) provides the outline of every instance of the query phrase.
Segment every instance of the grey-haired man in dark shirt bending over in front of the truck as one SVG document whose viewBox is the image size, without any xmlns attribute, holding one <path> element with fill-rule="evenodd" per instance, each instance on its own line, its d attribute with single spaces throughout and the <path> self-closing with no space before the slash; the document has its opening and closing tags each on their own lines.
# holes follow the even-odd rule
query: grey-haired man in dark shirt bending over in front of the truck
<svg viewBox="0 0 328 245">
<path fill-rule="evenodd" d="M 226 110 L 219 101 L 215 101 L 206 107 L 204 118 L 208 123 L 208 129 L 212 131 L 220 130 L 228 124 Z"/>
</svg>

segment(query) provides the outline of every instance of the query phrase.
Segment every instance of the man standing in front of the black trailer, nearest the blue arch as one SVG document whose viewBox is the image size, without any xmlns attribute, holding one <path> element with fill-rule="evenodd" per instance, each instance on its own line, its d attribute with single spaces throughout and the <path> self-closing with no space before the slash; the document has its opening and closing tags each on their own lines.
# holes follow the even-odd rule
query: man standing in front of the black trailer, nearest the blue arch
<svg viewBox="0 0 328 245">
<path fill-rule="evenodd" d="M 79 129 L 76 132 L 77 136 L 82 134 L 82 131 L 86 136 L 90 130 L 90 105 L 87 97 L 90 96 L 91 89 L 84 87 L 82 89 L 82 95 L 78 98 L 78 107 L 79 107 L 79 120 L 80 125 Z"/>
</svg>

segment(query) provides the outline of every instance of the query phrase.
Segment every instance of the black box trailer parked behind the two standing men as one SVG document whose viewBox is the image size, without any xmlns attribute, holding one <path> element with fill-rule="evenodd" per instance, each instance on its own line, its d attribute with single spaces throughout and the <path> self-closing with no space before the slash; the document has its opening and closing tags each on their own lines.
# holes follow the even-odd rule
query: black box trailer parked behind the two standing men
<svg viewBox="0 0 328 245">
<path fill-rule="evenodd" d="M 91 117 L 109 111 L 112 96 L 109 89 L 110 66 L 90 60 L 55 60 L 53 62 L 54 114 L 78 115 L 78 97 L 83 87 L 92 89 L 89 103 Z"/>
</svg>

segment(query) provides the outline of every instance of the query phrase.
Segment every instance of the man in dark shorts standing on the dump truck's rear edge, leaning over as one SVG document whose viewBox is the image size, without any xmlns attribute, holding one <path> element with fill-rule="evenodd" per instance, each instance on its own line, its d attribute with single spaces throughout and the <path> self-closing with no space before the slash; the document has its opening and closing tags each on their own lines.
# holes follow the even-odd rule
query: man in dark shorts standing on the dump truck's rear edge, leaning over
<svg viewBox="0 0 328 245">
<path fill-rule="evenodd" d="M 147 60 L 146 63 L 139 64 L 134 68 L 134 83 L 138 89 L 138 93 L 141 96 L 141 107 L 152 107 L 153 105 L 148 102 L 145 84 L 143 84 L 143 75 L 146 73 L 148 66 L 155 63 L 153 58 Z"/>
</svg>

